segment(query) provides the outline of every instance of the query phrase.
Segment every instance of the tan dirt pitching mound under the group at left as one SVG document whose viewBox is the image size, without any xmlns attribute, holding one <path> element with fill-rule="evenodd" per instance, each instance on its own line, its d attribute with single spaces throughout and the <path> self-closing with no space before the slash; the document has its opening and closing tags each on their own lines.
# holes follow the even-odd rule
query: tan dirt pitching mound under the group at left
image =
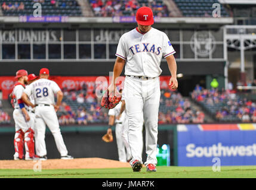
<svg viewBox="0 0 256 190">
<path fill-rule="evenodd" d="M 88 169 L 131 167 L 129 163 L 100 158 L 88 159 L 48 159 L 48 160 L 0 160 L 0 169 L 33 169 L 35 164 L 42 163 L 42 169 Z"/>
</svg>

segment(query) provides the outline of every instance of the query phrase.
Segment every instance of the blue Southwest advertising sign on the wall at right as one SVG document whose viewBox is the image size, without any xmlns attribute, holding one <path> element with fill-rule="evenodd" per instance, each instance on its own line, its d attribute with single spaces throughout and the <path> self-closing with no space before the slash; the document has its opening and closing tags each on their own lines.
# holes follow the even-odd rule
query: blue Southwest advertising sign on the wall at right
<svg viewBox="0 0 256 190">
<path fill-rule="evenodd" d="M 256 124 L 177 125 L 178 166 L 256 164 Z"/>
</svg>

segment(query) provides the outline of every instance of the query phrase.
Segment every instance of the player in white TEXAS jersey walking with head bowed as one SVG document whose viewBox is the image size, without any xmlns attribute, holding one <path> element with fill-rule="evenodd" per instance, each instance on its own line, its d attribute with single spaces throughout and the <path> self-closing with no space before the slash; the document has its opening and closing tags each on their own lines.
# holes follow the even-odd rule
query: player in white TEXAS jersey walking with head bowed
<svg viewBox="0 0 256 190">
<path fill-rule="evenodd" d="M 172 89 L 178 87 L 177 65 L 173 54 L 174 48 L 168 36 L 152 24 L 153 12 L 149 7 L 137 10 L 136 20 L 138 27 L 121 36 L 116 50 L 116 62 L 113 69 L 112 83 L 109 86 L 110 94 L 118 94 L 116 78 L 121 75 L 125 66 L 125 108 L 128 117 L 128 141 L 131 147 L 132 160 L 130 162 L 134 172 L 140 172 L 143 167 L 138 139 L 140 138 L 140 117 L 144 116 L 146 130 L 146 154 L 144 163 L 147 171 L 156 172 L 156 154 L 158 141 L 158 110 L 160 101 L 159 75 L 161 75 L 162 57 L 167 61 Z M 126 63 L 126 64 L 125 64 Z"/>
</svg>

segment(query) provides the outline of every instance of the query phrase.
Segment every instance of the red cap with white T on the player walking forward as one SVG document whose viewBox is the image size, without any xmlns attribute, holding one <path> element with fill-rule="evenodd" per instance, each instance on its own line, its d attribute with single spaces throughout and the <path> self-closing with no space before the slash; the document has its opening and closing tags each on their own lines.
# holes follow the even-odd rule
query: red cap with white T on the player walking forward
<svg viewBox="0 0 256 190">
<path fill-rule="evenodd" d="M 149 7 L 141 7 L 136 12 L 136 20 L 138 24 L 149 26 L 154 24 L 153 12 Z"/>
</svg>

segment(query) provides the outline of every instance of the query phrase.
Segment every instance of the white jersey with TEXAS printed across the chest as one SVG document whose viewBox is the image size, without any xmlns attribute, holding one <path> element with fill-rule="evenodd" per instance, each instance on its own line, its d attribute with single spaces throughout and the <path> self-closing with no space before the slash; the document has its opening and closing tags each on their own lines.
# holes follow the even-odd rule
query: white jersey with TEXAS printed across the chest
<svg viewBox="0 0 256 190">
<path fill-rule="evenodd" d="M 125 75 L 158 77 L 162 56 L 175 53 L 168 36 L 153 27 L 145 34 L 128 31 L 119 40 L 116 56 L 127 59 Z"/>
</svg>

